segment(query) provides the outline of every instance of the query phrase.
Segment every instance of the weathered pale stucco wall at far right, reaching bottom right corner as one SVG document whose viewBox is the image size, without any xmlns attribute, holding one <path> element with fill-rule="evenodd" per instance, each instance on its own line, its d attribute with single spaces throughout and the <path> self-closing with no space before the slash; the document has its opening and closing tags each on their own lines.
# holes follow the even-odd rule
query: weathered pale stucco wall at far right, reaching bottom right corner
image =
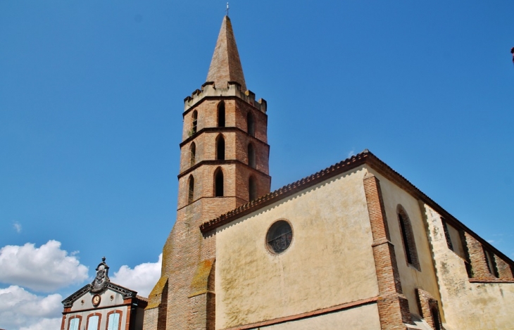
<svg viewBox="0 0 514 330">
<path fill-rule="evenodd" d="M 447 329 L 514 329 L 514 283 L 470 283 L 463 259 L 446 245 L 441 216 L 427 217 Z M 453 239 L 453 236 L 452 236 Z"/>
</svg>

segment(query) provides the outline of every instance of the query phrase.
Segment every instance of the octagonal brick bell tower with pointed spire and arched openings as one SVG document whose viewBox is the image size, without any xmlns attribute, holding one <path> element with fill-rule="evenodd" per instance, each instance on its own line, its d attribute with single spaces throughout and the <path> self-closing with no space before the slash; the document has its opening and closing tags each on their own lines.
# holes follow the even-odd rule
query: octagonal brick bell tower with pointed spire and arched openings
<svg viewBox="0 0 514 330">
<path fill-rule="evenodd" d="M 215 329 L 215 234 L 199 226 L 270 192 L 266 102 L 246 89 L 232 23 L 222 21 L 207 82 L 184 99 L 177 221 L 144 329 Z"/>
</svg>

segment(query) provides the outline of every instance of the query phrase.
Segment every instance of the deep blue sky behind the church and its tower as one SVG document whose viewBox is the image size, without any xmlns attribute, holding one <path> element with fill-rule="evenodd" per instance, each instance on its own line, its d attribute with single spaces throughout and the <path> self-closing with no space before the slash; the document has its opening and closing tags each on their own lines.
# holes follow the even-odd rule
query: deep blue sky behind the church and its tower
<svg viewBox="0 0 514 330">
<path fill-rule="evenodd" d="M 0 279 L 0 315 L 8 288 L 58 300 L 104 255 L 111 274 L 158 268 L 183 99 L 225 2 L 0 0 L 0 248 L 72 269 L 61 286 Z M 268 101 L 272 189 L 368 148 L 514 258 L 513 1 L 230 6 L 246 85 Z"/>
</svg>

